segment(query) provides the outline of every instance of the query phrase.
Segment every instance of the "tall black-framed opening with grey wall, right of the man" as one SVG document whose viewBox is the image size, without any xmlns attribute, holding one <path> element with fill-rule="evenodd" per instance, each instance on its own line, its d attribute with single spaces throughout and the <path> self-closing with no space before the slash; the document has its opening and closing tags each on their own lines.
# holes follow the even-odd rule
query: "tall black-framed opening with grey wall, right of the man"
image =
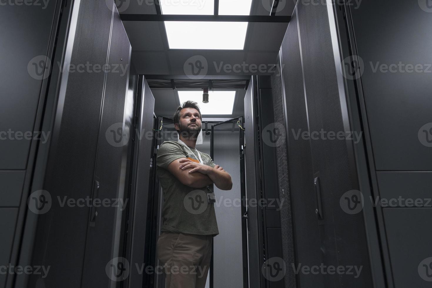
<svg viewBox="0 0 432 288">
<path fill-rule="evenodd" d="M 248 242 L 245 207 L 245 158 L 243 117 L 212 125 L 210 156 L 232 178 L 232 189 L 214 186 L 219 235 L 213 238 L 210 287 L 248 285 Z"/>
</svg>

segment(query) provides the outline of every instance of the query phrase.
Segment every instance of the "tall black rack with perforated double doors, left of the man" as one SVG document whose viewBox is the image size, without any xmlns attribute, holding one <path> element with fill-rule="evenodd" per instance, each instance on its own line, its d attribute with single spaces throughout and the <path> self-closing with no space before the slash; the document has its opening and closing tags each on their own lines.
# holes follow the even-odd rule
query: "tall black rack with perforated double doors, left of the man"
<svg viewBox="0 0 432 288">
<path fill-rule="evenodd" d="M 110 280 L 104 269 L 93 270 L 93 278 L 87 275 L 92 263 L 105 266 L 121 254 L 124 213 L 118 206 L 62 206 L 57 198 L 124 200 L 121 179 L 126 173 L 123 164 L 127 159 L 123 156 L 128 148 L 122 136 L 131 47 L 114 1 L 56 4 L 60 14 L 59 26 L 54 22 L 54 35 L 58 32 L 59 37 L 51 39 L 56 62 L 46 78 L 49 88 L 41 101 L 42 127 L 52 134 L 46 145 L 38 148 L 29 202 L 28 194 L 23 193 L 23 211 L 27 206 L 28 210 L 22 240 L 16 241 L 20 246 L 19 265 L 44 265 L 51 270 L 46 278 L 23 274 L 10 277 L 8 282 L 19 287 L 64 282 L 78 287 L 93 281 L 116 286 L 118 282 Z M 88 29 L 88 25 L 98 29 Z M 107 68 L 70 69 L 86 66 L 86 61 L 93 68 Z M 108 137 L 111 128 L 116 128 L 120 142 Z M 65 269 L 69 273 L 65 274 Z"/>
</svg>

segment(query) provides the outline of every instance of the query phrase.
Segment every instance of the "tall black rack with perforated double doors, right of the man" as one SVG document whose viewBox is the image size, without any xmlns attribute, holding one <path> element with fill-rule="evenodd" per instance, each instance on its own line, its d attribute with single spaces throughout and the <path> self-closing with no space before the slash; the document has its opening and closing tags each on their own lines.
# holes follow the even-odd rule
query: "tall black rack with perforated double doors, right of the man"
<svg viewBox="0 0 432 288">
<path fill-rule="evenodd" d="M 333 14 L 337 5 L 327 2 L 297 3 L 280 50 L 282 87 L 277 85 L 280 80 L 273 76 L 273 89 L 282 90 L 284 98 L 280 101 L 276 98 L 280 92 L 273 93 L 276 95 L 273 101 L 282 102 L 286 113 L 292 233 L 284 234 L 283 240 L 292 237 L 284 245 L 292 243 L 293 253 L 284 247 L 284 256 L 292 259 L 288 262 L 292 266 L 287 267 L 290 270 L 300 263 L 309 267 L 321 263 L 356 265 L 363 270 L 356 279 L 348 275 L 312 275 L 288 270 L 285 283 L 295 283 L 297 287 L 383 287 L 381 259 L 372 254 L 377 251 L 375 247 L 379 251 L 379 246 L 374 240 L 376 226 L 373 213 L 369 214 L 370 207 L 349 214 L 340 204 L 344 193 L 359 191 L 363 188 L 360 183 L 365 183 L 365 171 L 359 171 L 359 163 L 365 161 L 359 151 L 362 144 L 355 143 L 355 146 L 353 139 L 330 141 L 311 137 L 321 130 L 361 131 L 357 130 L 358 126 L 353 127 L 355 111 L 350 106 L 353 103 L 347 103 L 339 73 L 340 39 Z M 296 134 L 297 131 L 300 133 Z"/>
</svg>

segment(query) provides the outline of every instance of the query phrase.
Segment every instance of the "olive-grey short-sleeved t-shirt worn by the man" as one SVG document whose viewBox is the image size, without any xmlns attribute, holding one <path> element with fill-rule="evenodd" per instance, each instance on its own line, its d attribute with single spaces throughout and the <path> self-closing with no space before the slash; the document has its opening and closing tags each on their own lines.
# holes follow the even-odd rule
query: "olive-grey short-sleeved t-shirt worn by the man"
<svg viewBox="0 0 432 288">
<path fill-rule="evenodd" d="M 187 149 L 176 141 L 165 141 L 159 146 L 156 173 L 165 201 L 162 209 L 162 232 L 213 236 L 219 234 L 214 204 L 207 202 L 207 188 L 186 186 L 168 171 L 168 165 L 178 158 L 185 157 L 197 161 L 196 153 L 195 149 Z M 204 165 L 215 166 L 210 155 L 199 153 Z"/>
</svg>

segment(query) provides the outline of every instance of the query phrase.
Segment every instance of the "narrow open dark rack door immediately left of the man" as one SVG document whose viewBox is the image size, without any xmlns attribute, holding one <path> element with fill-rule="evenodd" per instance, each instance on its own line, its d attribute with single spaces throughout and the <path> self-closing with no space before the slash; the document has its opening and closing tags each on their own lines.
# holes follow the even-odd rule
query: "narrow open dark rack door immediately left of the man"
<svg viewBox="0 0 432 288">
<path fill-rule="evenodd" d="M 133 131 L 130 131 L 130 137 L 133 142 L 132 167 L 130 168 L 130 191 L 128 204 L 128 220 L 126 234 L 126 252 L 127 259 L 121 259 L 127 266 L 126 281 L 123 287 L 146 287 L 146 281 L 149 281 L 151 274 L 141 273 L 139 268 L 148 265 L 149 252 L 152 249 L 148 239 L 152 227 L 149 222 L 149 212 L 152 206 L 149 201 L 152 197 L 154 167 L 155 161 L 153 153 L 154 131 L 154 105 L 155 98 L 143 75 L 138 77 L 136 103 L 136 117 Z M 128 262 L 127 262 L 128 261 Z M 123 263 L 123 265 L 125 265 Z"/>
</svg>

